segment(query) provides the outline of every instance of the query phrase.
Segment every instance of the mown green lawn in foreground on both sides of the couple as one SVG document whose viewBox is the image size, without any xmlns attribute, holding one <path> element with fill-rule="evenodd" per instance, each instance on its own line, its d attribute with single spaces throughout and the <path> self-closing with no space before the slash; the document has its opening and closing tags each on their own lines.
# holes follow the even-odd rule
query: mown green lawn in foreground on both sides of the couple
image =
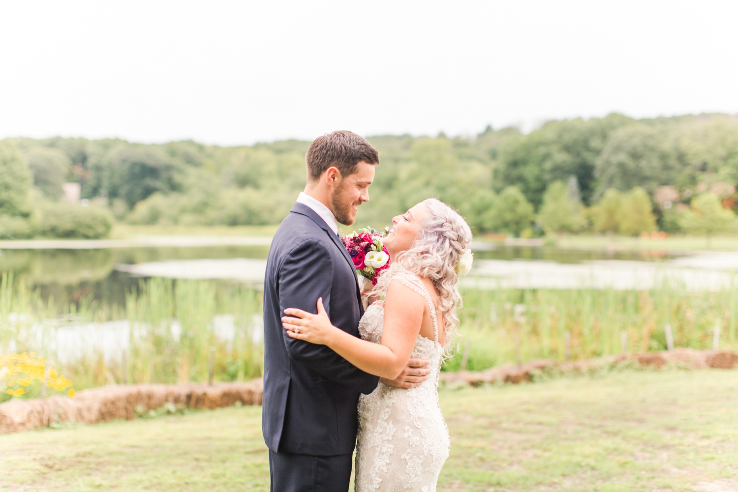
<svg viewBox="0 0 738 492">
<path fill-rule="evenodd" d="M 738 490 L 738 371 L 442 389 L 446 491 Z M 0 436 L 0 490 L 266 491 L 261 408 Z"/>
</svg>

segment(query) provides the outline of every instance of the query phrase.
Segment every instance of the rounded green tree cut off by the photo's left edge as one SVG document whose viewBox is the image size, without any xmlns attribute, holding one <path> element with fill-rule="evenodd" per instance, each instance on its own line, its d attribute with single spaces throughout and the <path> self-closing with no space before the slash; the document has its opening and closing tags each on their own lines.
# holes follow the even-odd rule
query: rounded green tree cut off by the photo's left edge
<svg viewBox="0 0 738 492">
<path fill-rule="evenodd" d="M 0 142 L 0 215 L 27 217 L 31 173 L 26 161 L 10 142 Z"/>
</svg>

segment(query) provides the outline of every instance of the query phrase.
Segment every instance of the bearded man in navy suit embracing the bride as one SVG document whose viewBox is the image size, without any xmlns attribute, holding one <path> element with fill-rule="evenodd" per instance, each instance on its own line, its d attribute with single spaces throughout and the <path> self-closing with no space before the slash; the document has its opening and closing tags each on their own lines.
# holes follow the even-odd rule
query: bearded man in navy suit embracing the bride
<svg viewBox="0 0 738 492">
<path fill-rule="evenodd" d="M 356 444 L 356 403 L 379 378 L 357 369 L 325 345 L 292 339 L 280 318 L 286 308 L 317 313 L 359 336 L 364 310 L 356 270 L 337 234 L 354 224 L 369 201 L 379 153 L 351 131 L 318 137 L 306 154 L 308 182 L 269 249 L 264 279 L 262 430 L 269 447 L 272 492 L 346 492 Z M 382 383 L 414 387 L 427 361 L 410 359 Z"/>
</svg>

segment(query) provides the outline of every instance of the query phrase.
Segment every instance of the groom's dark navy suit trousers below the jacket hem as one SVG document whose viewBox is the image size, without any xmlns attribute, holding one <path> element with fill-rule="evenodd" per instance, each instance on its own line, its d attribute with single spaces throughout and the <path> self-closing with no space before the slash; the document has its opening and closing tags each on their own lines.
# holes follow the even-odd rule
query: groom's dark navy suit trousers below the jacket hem
<svg viewBox="0 0 738 492">
<path fill-rule="evenodd" d="M 311 456 L 269 450 L 271 492 L 348 492 L 354 454 Z"/>
</svg>

